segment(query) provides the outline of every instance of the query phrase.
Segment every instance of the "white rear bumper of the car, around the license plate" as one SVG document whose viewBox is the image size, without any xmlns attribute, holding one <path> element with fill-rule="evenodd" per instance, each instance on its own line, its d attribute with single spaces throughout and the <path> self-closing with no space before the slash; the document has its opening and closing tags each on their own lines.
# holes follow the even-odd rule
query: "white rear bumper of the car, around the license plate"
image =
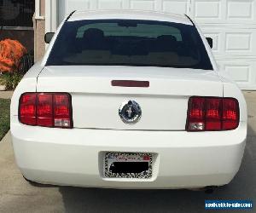
<svg viewBox="0 0 256 213">
<path fill-rule="evenodd" d="M 247 124 L 232 131 L 61 130 L 11 118 L 15 159 L 27 179 L 56 185 L 190 188 L 229 183 L 241 165 Z M 148 180 L 103 176 L 104 152 L 156 153 Z"/>
</svg>

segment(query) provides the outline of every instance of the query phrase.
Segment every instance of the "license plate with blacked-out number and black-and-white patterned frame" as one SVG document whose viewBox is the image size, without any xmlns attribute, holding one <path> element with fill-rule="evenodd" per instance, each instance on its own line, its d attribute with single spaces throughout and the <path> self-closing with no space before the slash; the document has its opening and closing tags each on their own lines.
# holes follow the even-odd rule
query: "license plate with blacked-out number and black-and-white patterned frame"
<svg viewBox="0 0 256 213">
<path fill-rule="evenodd" d="M 152 177 L 152 153 L 105 153 L 104 165 L 105 177 Z"/>
</svg>

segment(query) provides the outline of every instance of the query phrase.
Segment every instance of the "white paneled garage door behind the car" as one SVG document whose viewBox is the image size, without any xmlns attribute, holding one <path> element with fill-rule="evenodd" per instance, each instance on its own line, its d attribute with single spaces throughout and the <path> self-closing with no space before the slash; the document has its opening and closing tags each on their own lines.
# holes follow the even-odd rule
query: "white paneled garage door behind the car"
<svg viewBox="0 0 256 213">
<path fill-rule="evenodd" d="M 66 0 L 59 17 L 76 9 L 144 9 L 189 14 L 206 36 L 221 70 L 241 89 L 256 89 L 256 0 Z"/>
</svg>

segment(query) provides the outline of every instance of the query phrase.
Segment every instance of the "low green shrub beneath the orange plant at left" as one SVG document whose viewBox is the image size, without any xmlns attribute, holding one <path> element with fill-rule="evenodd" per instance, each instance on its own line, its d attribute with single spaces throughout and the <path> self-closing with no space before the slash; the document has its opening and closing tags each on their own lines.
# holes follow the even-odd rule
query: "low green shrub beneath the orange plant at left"
<svg viewBox="0 0 256 213">
<path fill-rule="evenodd" d="M 15 89 L 17 85 L 20 83 L 20 80 L 23 78 L 23 74 L 18 72 L 14 73 L 3 73 L 1 76 L 0 83 L 5 85 L 6 89 Z"/>
</svg>

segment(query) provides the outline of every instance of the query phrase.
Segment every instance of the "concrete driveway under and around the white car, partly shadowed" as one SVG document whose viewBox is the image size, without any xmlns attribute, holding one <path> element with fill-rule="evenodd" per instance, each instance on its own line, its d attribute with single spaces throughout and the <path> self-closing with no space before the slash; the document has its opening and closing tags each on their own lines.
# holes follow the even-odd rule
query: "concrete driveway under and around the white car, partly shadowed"
<svg viewBox="0 0 256 213">
<path fill-rule="evenodd" d="M 248 139 L 241 170 L 228 186 L 218 188 L 212 194 L 188 190 L 33 187 L 22 178 L 15 165 L 8 134 L 0 143 L 0 212 L 200 213 L 205 212 L 205 199 L 252 199 L 255 205 L 256 92 L 245 92 L 245 95 L 249 118 Z M 256 207 L 250 212 L 256 212 Z"/>
</svg>

